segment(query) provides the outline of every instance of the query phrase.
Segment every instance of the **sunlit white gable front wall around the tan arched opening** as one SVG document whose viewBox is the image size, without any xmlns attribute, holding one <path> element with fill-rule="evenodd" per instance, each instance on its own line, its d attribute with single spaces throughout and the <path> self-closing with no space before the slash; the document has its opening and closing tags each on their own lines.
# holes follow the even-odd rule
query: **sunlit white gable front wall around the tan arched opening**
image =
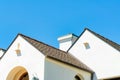
<svg viewBox="0 0 120 80">
<path fill-rule="evenodd" d="M 18 43 L 21 56 L 17 56 L 15 52 Z M 28 71 L 29 80 L 32 80 L 34 75 L 37 75 L 40 80 L 44 80 L 44 59 L 42 53 L 18 36 L 0 61 L 0 80 L 6 80 L 8 73 L 16 66 L 22 66 Z"/>
</svg>

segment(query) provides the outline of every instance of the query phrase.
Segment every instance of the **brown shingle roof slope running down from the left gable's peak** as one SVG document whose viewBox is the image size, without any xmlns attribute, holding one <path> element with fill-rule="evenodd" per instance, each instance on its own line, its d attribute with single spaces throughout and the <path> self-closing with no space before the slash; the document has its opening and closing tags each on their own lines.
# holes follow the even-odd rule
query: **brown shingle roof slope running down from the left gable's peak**
<svg viewBox="0 0 120 80">
<path fill-rule="evenodd" d="M 42 52 L 45 56 L 59 60 L 61 62 L 70 64 L 72 66 L 75 66 L 77 68 L 89 71 L 93 73 L 93 71 L 88 68 L 85 64 L 77 60 L 75 57 L 73 57 L 71 54 L 61 51 L 59 49 L 56 49 L 52 46 L 49 46 L 47 44 L 44 44 L 40 41 L 37 41 L 33 38 L 27 37 L 25 35 L 20 34 L 26 41 L 28 41 L 31 45 L 33 45 L 36 49 L 38 49 L 40 52 Z"/>
</svg>

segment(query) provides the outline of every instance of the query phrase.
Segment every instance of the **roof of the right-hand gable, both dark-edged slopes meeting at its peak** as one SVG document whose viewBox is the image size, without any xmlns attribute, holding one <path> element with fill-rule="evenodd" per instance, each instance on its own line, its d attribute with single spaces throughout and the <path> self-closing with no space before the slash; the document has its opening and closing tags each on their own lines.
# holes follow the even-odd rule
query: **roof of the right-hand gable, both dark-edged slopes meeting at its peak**
<svg viewBox="0 0 120 80">
<path fill-rule="evenodd" d="M 116 50 L 120 51 L 120 45 L 119 45 L 119 44 L 117 44 L 117 43 L 115 43 L 115 42 L 113 42 L 113 41 L 111 41 L 111 40 L 109 40 L 109 39 L 107 39 L 107 38 L 105 38 L 105 37 L 103 37 L 103 36 L 101 36 L 101 35 L 93 32 L 92 30 L 90 30 L 90 29 L 88 29 L 88 28 L 85 28 L 84 31 L 82 32 L 82 34 L 83 34 L 86 30 L 88 30 L 88 31 L 91 32 L 93 35 L 95 35 L 96 37 L 98 37 L 98 38 L 101 39 L 102 41 L 106 42 L 107 44 L 109 44 L 110 46 L 112 46 L 113 48 L 115 48 Z M 82 36 L 82 34 L 78 37 L 78 39 Z M 68 49 L 67 52 L 69 52 L 69 50 L 74 46 L 74 44 L 78 41 L 78 39 L 73 43 L 73 45 L 71 45 L 71 47 Z"/>
</svg>

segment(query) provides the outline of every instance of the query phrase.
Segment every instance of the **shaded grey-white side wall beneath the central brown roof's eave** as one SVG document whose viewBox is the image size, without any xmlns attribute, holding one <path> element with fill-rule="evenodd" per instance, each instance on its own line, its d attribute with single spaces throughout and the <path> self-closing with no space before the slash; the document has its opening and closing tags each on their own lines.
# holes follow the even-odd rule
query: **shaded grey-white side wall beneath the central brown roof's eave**
<svg viewBox="0 0 120 80">
<path fill-rule="evenodd" d="M 74 80 L 75 75 L 78 73 L 83 76 L 84 80 L 91 80 L 89 72 L 50 58 L 45 60 L 45 80 Z"/>
</svg>

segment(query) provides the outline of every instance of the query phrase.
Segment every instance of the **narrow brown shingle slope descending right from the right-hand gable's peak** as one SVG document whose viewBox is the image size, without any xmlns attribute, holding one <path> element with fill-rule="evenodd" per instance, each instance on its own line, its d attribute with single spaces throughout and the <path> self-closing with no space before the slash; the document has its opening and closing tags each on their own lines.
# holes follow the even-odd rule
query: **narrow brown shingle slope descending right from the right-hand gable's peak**
<svg viewBox="0 0 120 80">
<path fill-rule="evenodd" d="M 90 31 L 90 32 L 91 32 L 92 34 L 94 34 L 96 37 L 100 38 L 101 40 L 103 40 L 104 42 L 106 42 L 107 44 L 109 44 L 110 46 L 112 46 L 112 47 L 114 47 L 115 49 L 117 49 L 118 51 L 120 51 L 120 45 L 119 45 L 119 44 L 117 44 L 117 43 L 115 43 L 115 42 L 113 42 L 113 41 L 111 41 L 111 40 L 109 40 L 109 39 L 107 39 L 107 38 L 105 38 L 105 37 L 103 37 L 103 36 L 101 36 L 101 35 L 93 32 L 93 31 L 91 31 L 91 30 L 89 30 L 89 29 L 87 29 L 87 28 L 86 28 L 86 30 Z"/>
</svg>

